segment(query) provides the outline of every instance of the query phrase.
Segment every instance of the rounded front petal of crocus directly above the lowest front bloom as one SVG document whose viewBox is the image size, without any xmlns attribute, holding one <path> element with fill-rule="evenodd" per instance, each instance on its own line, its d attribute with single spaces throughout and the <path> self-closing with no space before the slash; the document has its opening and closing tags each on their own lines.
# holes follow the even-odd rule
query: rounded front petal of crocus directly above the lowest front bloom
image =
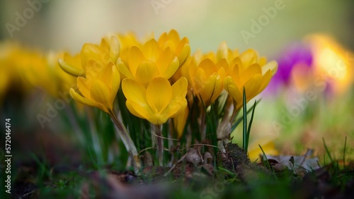
<svg viewBox="0 0 354 199">
<path fill-rule="evenodd" d="M 142 85 L 147 86 L 152 79 L 159 76 L 159 70 L 152 61 L 142 61 L 141 64 L 137 67 L 137 74 L 135 78 L 142 83 Z"/>
</svg>

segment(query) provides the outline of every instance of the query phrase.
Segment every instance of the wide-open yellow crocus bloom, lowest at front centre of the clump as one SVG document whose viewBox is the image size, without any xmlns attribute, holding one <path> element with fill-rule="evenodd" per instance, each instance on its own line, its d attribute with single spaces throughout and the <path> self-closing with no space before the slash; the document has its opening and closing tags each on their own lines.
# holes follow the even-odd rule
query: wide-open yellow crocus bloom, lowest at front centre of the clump
<svg viewBox="0 0 354 199">
<path fill-rule="evenodd" d="M 127 98 L 127 109 L 142 119 L 160 125 L 176 116 L 187 106 L 185 95 L 188 82 L 180 78 L 172 86 L 164 77 L 154 78 L 147 88 L 137 80 L 122 80 L 122 91 Z"/>
</svg>

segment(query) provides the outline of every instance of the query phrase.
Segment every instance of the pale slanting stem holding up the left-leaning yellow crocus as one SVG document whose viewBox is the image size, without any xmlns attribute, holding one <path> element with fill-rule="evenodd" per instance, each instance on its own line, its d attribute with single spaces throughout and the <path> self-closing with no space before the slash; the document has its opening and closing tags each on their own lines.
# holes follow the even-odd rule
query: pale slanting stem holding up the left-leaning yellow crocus
<svg viewBox="0 0 354 199">
<path fill-rule="evenodd" d="M 137 153 L 137 147 L 135 147 L 135 144 L 132 141 L 132 138 L 130 138 L 130 135 L 127 133 L 127 129 L 125 129 L 125 126 L 120 123 L 118 120 L 117 116 L 113 113 L 113 111 L 109 111 L 110 118 L 112 121 L 115 123 L 115 127 L 117 128 L 118 131 L 118 136 L 120 139 L 122 139 L 123 144 L 125 145 L 125 148 L 127 149 L 127 152 L 129 153 L 130 157 L 133 160 L 133 166 L 135 173 L 137 174 L 139 172 L 139 169 L 141 169 L 142 164 L 140 163 L 140 159 L 138 157 Z"/>
</svg>

